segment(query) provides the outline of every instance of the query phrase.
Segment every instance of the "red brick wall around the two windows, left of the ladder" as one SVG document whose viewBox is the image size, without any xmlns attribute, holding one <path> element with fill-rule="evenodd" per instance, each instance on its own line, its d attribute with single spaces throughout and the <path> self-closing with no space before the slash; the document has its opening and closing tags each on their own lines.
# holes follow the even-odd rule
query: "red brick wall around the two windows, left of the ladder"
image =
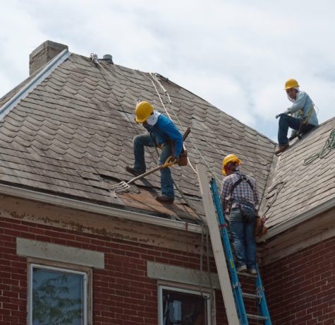
<svg viewBox="0 0 335 325">
<path fill-rule="evenodd" d="M 1 325 L 26 324 L 27 259 L 16 255 L 16 237 L 104 252 L 105 268 L 93 271 L 95 325 L 157 325 L 157 281 L 147 278 L 147 261 L 200 268 L 195 254 L 0 217 Z M 226 324 L 225 319 L 218 292 L 217 324 Z"/>
</svg>

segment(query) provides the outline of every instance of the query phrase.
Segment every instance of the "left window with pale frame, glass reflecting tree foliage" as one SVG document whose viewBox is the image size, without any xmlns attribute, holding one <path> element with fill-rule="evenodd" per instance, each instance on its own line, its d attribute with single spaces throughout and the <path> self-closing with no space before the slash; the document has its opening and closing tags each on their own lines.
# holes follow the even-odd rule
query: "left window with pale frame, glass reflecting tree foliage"
<svg viewBox="0 0 335 325">
<path fill-rule="evenodd" d="M 30 325 L 87 325 L 87 273 L 30 264 Z"/>
</svg>

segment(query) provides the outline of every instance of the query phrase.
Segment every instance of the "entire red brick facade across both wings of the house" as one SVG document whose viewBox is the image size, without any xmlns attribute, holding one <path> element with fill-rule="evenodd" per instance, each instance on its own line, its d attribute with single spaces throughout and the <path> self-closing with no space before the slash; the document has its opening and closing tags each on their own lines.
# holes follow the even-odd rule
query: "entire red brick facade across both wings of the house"
<svg viewBox="0 0 335 325">
<path fill-rule="evenodd" d="M 27 321 L 28 264 L 27 258 L 16 254 L 16 237 L 104 253 L 105 268 L 93 271 L 95 325 L 157 325 L 157 280 L 147 278 L 147 261 L 196 270 L 200 265 L 199 256 L 188 252 L 2 217 L 0 235 L 1 325 Z M 326 240 L 264 268 L 272 324 L 334 324 L 334 249 L 334 240 Z M 217 324 L 227 324 L 219 291 L 216 302 Z"/>
</svg>

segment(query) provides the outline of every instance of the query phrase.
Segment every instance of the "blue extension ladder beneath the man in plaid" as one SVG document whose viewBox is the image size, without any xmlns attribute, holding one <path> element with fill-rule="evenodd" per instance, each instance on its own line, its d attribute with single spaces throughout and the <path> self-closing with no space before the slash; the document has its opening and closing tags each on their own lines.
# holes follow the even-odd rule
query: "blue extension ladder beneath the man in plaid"
<svg viewBox="0 0 335 325">
<path fill-rule="evenodd" d="M 225 227 L 224 215 L 221 209 L 221 202 L 219 199 L 219 194 L 217 191 L 217 183 L 215 179 L 212 178 L 210 181 L 210 187 L 212 190 L 213 201 L 215 204 L 215 208 L 217 210 L 217 216 L 219 218 L 219 225 L 221 237 L 224 242 L 224 250 L 226 252 L 226 260 L 229 268 L 229 272 L 231 274 L 231 286 L 233 290 L 233 297 L 236 304 L 236 309 L 238 313 L 238 319 L 240 321 L 240 325 L 248 325 L 248 319 L 257 319 L 263 322 L 263 325 L 271 325 L 271 319 L 269 315 L 269 309 L 267 308 L 267 301 L 265 300 L 264 288 L 262 285 L 262 280 L 260 279 L 260 271 L 258 266 L 256 265 L 257 276 L 252 276 L 255 278 L 255 295 L 250 293 L 243 293 L 240 287 L 240 282 L 238 281 L 238 273 L 235 268 L 235 264 L 233 261 L 233 253 L 231 251 L 231 244 L 229 242 L 228 231 Z M 248 276 L 251 276 L 248 274 Z M 247 314 L 245 312 L 245 305 L 243 302 L 243 297 L 251 298 L 257 300 L 257 307 L 260 311 L 260 315 Z"/>
</svg>

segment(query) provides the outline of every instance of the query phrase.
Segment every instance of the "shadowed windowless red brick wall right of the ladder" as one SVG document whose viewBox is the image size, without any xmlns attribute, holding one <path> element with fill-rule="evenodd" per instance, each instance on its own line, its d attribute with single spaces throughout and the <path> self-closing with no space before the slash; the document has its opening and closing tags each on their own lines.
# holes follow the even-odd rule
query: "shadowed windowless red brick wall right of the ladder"
<svg viewBox="0 0 335 325">
<path fill-rule="evenodd" d="M 329 239 L 262 270 L 273 325 L 332 325 L 335 240 Z"/>
</svg>

